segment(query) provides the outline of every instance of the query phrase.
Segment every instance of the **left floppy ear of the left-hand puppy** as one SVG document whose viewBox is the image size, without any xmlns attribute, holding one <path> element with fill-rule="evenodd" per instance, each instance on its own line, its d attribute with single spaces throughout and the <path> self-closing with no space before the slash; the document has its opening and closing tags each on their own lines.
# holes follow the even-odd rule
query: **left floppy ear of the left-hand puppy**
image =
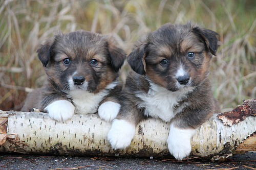
<svg viewBox="0 0 256 170">
<path fill-rule="evenodd" d="M 46 67 L 51 56 L 51 47 L 55 38 L 48 39 L 44 44 L 39 45 L 37 49 L 38 58 L 42 62 L 42 65 Z"/>
</svg>

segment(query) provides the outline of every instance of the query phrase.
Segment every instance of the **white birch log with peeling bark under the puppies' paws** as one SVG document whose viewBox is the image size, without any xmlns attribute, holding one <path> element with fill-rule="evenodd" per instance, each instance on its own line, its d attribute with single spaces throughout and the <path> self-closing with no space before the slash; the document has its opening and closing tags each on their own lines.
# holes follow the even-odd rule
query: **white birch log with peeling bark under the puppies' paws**
<svg viewBox="0 0 256 170">
<path fill-rule="evenodd" d="M 125 157 L 169 155 L 166 143 L 169 124 L 160 119 L 141 122 L 130 147 L 123 150 L 111 148 L 107 140 L 110 128 L 111 123 L 104 122 L 97 114 L 76 114 L 63 124 L 50 119 L 47 113 L 9 112 L 7 134 L 13 134 L 9 136 L 12 140 L 0 145 L 0 152 Z M 226 158 L 255 131 L 255 116 L 224 126 L 214 114 L 191 138 L 190 157 Z"/>
</svg>

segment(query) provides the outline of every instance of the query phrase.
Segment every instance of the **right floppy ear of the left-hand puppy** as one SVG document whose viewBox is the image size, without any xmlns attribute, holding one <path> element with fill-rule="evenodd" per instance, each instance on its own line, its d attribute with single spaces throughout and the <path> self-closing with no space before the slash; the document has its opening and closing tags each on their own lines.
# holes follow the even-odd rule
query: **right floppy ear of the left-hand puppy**
<svg viewBox="0 0 256 170">
<path fill-rule="evenodd" d="M 111 37 L 108 37 L 108 50 L 112 67 L 116 72 L 118 72 L 123 65 L 126 54 L 121 48 L 115 45 L 114 40 Z"/>
</svg>

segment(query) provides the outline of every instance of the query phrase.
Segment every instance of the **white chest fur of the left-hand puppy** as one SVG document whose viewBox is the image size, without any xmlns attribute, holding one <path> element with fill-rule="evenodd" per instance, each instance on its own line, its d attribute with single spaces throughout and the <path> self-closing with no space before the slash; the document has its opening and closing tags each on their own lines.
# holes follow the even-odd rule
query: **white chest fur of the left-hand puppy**
<svg viewBox="0 0 256 170">
<path fill-rule="evenodd" d="M 88 114 L 95 113 L 99 107 L 99 103 L 103 98 L 109 94 L 110 89 L 115 88 L 117 82 L 112 82 L 105 89 L 94 94 L 86 90 L 71 90 L 69 96 L 73 99 L 76 107 L 76 113 L 78 114 Z"/>
</svg>

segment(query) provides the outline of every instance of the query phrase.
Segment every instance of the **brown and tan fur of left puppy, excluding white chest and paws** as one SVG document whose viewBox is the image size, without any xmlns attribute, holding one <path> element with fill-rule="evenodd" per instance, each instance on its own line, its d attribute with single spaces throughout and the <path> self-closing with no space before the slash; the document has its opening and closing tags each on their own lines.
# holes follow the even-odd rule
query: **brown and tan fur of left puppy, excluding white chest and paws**
<svg viewBox="0 0 256 170">
<path fill-rule="evenodd" d="M 22 111 L 39 108 L 44 112 L 54 101 L 72 102 L 73 99 L 69 96 L 72 88 L 99 93 L 117 81 L 118 70 L 125 59 L 124 51 L 115 44 L 110 35 L 84 30 L 68 34 L 59 32 L 40 45 L 37 53 L 45 67 L 47 81 L 44 87 L 28 95 Z M 70 63 L 65 64 L 65 59 L 69 59 Z M 92 60 L 97 60 L 97 64 L 92 64 Z M 78 76 L 83 77 L 88 85 L 75 84 L 74 78 Z M 111 98 L 110 101 L 118 103 L 120 90 L 119 87 L 107 89 L 108 95 L 103 100 L 108 101 L 107 98 Z"/>
</svg>

